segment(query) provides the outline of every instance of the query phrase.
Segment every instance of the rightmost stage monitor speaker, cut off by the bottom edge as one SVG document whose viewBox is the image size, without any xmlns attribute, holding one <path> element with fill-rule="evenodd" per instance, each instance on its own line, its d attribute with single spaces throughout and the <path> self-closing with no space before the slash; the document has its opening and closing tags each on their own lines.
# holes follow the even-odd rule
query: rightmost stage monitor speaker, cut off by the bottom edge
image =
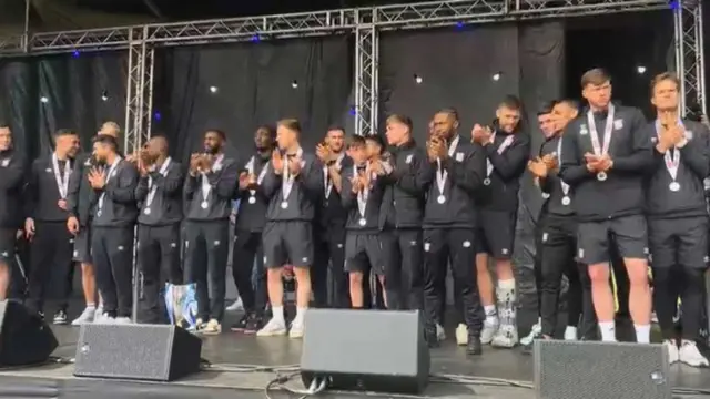
<svg viewBox="0 0 710 399">
<path fill-rule="evenodd" d="M 670 399 L 662 345 L 535 341 L 538 399 Z"/>
</svg>

